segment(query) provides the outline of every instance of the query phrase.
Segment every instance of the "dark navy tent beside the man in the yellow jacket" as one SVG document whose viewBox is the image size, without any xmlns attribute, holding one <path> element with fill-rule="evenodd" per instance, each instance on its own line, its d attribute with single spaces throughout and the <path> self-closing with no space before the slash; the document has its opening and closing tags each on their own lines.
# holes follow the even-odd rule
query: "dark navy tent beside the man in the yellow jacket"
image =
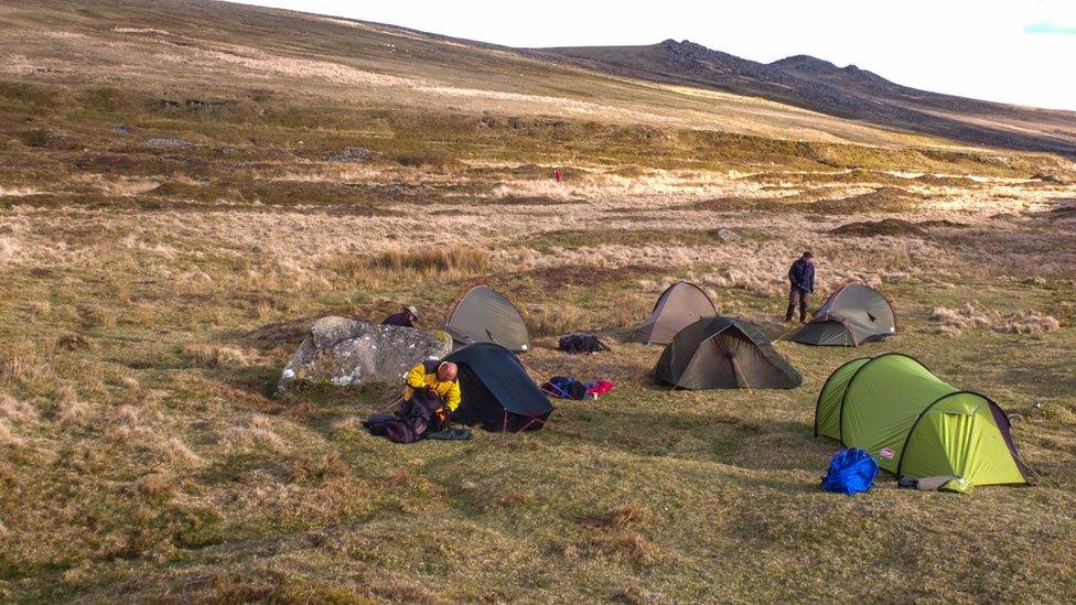
<svg viewBox="0 0 1076 605">
<path fill-rule="evenodd" d="M 452 420 L 487 431 L 537 431 L 553 407 L 507 348 L 477 343 L 444 358 L 460 368 L 460 407 Z"/>
</svg>

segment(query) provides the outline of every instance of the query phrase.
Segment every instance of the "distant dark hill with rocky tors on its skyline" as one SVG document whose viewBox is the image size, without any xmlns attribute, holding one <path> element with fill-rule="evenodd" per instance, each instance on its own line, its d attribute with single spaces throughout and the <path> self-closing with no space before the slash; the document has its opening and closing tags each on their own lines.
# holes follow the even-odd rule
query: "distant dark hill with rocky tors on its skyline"
<svg viewBox="0 0 1076 605">
<path fill-rule="evenodd" d="M 901 86 L 810 56 L 770 64 L 666 40 L 648 46 L 541 48 L 529 54 L 596 72 L 757 96 L 969 144 L 1076 156 L 1076 112 L 980 101 Z"/>
</svg>

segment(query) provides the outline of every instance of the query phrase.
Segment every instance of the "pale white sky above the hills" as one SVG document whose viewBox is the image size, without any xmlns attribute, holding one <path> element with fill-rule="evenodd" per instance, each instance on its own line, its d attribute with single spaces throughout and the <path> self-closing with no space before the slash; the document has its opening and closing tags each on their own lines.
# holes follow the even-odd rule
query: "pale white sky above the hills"
<svg viewBox="0 0 1076 605">
<path fill-rule="evenodd" d="M 744 58 L 808 54 L 899 84 L 1076 110 L 1076 0 L 243 0 L 508 46 L 690 40 Z"/>
</svg>

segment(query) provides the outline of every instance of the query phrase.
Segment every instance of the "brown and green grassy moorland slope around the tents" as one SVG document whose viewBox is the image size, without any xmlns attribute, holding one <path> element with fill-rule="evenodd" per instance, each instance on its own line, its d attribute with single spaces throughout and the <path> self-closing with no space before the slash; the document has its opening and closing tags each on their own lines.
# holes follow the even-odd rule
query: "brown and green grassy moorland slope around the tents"
<svg viewBox="0 0 1076 605">
<path fill-rule="evenodd" d="M 1076 596 L 1065 160 L 232 4 L 0 28 L 0 599 Z M 778 337 L 808 247 L 899 335 L 778 342 L 793 391 L 652 383 L 626 335 L 665 285 Z M 314 317 L 435 327 L 480 280 L 523 309 L 535 378 L 616 389 L 409 446 L 359 425 L 392 385 L 273 396 Z M 555 350 L 588 328 L 613 350 Z M 1042 483 L 820 493 L 817 392 L 886 350 L 1022 414 Z"/>
</svg>

